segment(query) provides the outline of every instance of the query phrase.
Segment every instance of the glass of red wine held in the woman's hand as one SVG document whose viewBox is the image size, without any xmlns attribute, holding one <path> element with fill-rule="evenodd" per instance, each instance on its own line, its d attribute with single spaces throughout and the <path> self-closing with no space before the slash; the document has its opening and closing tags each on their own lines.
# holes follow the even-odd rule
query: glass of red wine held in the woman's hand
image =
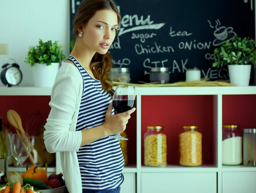
<svg viewBox="0 0 256 193">
<path fill-rule="evenodd" d="M 113 95 L 113 108 L 117 114 L 129 111 L 134 108 L 135 104 L 135 87 L 128 85 L 117 85 Z M 119 134 L 109 136 L 113 139 L 128 140 Z"/>
</svg>

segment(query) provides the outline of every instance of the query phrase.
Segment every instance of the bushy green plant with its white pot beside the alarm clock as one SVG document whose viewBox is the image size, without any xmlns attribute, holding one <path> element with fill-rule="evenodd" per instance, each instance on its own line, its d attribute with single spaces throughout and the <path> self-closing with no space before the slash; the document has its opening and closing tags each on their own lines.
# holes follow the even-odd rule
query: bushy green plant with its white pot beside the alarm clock
<svg viewBox="0 0 256 193">
<path fill-rule="evenodd" d="M 52 87 L 60 63 L 65 55 L 58 41 L 43 42 L 39 39 L 38 45 L 29 46 L 25 63 L 33 68 L 34 84 L 36 87 Z"/>
</svg>

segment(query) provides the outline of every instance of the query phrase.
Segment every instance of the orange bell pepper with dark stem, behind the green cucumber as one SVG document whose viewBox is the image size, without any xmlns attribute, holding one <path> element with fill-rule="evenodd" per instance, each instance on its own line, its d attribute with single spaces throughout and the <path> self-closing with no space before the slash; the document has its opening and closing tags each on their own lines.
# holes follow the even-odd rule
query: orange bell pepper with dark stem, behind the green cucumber
<svg viewBox="0 0 256 193">
<path fill-rule="evenodd" d="M 27 170 L 26 173 L 23 173 L 23 174 L 24 174 L 24 177 L 22 176 L 23 178 L 36 179 L 36 180 L 40 180 L 40 181 L 45 182 L 45 183 L 48 182 L 47 173 L 43 168 L 38 168 L 38 167 L 34 166 L 33 170 L 32 169 Z"/>
</svg>

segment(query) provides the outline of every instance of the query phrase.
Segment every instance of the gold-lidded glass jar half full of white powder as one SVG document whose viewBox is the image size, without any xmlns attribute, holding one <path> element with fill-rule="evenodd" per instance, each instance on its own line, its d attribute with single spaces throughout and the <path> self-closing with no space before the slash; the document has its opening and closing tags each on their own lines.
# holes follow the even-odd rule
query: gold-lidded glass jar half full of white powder
<svg viewBox="0 0 256 193">
<path fill-rule="evenodd" d="M 242 133 L 239 125 L 223 125 L 222 164 L 240 165 L 242 162 Z"/>
</svg>

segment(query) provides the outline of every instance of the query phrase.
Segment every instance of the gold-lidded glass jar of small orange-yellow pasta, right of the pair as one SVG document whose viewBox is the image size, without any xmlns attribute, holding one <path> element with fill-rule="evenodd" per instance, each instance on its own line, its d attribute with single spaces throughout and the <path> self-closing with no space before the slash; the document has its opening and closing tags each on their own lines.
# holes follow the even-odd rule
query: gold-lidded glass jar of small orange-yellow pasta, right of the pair
<svg viewBox="0 0 256 193">
<path fill-rule="evenodd" d="M 202 165 L 202 134 L 198 126 L 184 126 L 179 135 L 180 165 Z"/>
</svg>

